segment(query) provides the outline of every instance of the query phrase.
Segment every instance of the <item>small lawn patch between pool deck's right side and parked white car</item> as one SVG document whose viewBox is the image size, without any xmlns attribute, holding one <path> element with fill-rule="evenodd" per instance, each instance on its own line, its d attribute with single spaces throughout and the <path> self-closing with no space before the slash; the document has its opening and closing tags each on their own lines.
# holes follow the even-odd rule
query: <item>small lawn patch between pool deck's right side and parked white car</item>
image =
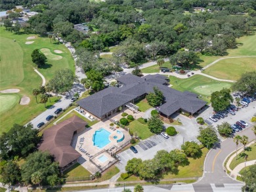
<svg viewBox="0 0 256 192">
<path fill-rule="evenodd" d="M 152 132 L 150 132 L 150 130 L 148 129 L 148 125 L 144 125 L 139 123 L 139 121 L 135 120 L 132 121 L 129 124 L 129 130 L 131 132 L 133 132 L 133 134 L 135 132 L 138 133 L 138 136 L 142 139 L 145 140 L 146 138 L 149 138 L 150 136 L 153 136 L 154 134 Z"/>
</svg>

